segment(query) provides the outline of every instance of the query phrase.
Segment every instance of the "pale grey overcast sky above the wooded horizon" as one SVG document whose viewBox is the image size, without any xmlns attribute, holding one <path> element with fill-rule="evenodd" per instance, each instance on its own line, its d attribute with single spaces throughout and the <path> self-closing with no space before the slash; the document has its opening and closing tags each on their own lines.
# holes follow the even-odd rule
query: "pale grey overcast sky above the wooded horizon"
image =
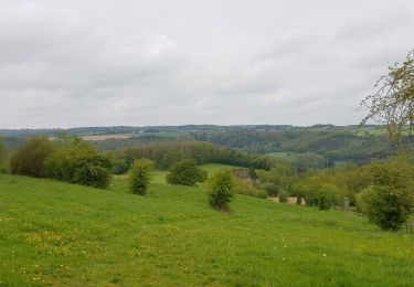
<svg viewBox="0 0 414 287">
<path fill-rule="evenodd" d="M 0 0 L 0 128 L 359 124 L 413 0 Z"/>
</svg>

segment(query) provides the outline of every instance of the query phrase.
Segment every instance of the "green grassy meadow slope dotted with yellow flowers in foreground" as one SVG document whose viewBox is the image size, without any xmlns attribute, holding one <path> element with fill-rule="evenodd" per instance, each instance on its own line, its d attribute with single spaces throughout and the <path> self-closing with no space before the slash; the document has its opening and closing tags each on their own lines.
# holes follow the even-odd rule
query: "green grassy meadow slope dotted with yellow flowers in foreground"
<svg viewBox="0 0 414 287">
<path fill-rule="evenodd" d="M 216 167 L 208 166 L 214 170 Z M 0 176 L 0 286 L 410 286 L 414 236 L 364 217 L 237 195 L 158 173 L 146 196 Z"/>
</svg>

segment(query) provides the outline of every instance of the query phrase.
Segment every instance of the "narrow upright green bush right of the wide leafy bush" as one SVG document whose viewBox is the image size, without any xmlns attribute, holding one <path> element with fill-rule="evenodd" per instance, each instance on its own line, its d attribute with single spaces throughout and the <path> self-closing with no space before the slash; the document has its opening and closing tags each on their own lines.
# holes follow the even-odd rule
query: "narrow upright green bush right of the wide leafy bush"
<svg viewBox="0 0 414 287">
<path fill-rule="evenodd" d="M 152 160 L 138 159 L 134 161 L 128 173 L 129 190 L 135 194 L 145 195 L 148 184 L 151 181 L 152 170 Z"/>
</svg>

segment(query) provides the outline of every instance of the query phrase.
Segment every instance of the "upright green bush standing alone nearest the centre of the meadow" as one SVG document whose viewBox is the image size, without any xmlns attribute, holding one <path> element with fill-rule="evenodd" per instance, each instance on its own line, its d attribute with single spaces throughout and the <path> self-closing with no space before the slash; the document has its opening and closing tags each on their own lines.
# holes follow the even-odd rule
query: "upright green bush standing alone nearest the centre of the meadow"
<svg viewBox="0 0 414 287">
<path fill-rule="evenodd" d="M 208 199 L 212 208 L 226 211 L 234 196 L 235 180 L 231 170 L 216 172 L 208 182 Z"/>
</svg>

